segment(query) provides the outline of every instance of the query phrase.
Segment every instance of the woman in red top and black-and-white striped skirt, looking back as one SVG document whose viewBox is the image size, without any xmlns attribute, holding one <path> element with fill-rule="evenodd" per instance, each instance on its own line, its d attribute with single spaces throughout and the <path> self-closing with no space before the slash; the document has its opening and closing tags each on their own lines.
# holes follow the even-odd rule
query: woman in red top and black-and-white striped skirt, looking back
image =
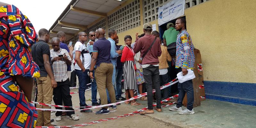
<svg viewBox="0 0 256 128">
<path fill-rule="evenodd" d="M 134 70 L 134 52 L 131 47 L 132 44 L 132 37 L 131 36 L 124 36 L 124 41 L 126 46 L 124 47 L 121 62 L 124 63 L 123 71 L 124 71 L 124 89 L 125 89 L 125 98 L 129 100 L 130 97 L 133 97 L 133 90 L 136 89 L 136 78 L 135 78 L 135 70 Z M 129 104 L 129 102 L 125 102 L 125 104 Z M 141 105 L 140 103 L 136 102 L 135 100 L 131 100 L 131 105 Z"/>
</svg>

